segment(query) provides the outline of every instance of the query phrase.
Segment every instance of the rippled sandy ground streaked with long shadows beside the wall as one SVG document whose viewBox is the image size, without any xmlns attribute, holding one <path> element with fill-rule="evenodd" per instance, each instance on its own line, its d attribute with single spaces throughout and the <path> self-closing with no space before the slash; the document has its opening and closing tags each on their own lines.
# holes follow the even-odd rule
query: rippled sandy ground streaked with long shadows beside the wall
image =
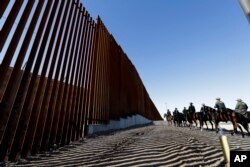
<svg viewBox="0 0 250 167">
<path fill-rule="evenodd" d="M 230 129 L 231 124 L 220 125 Z M 232 126 L 232 125 L 231 125 Z M 228 137 L 231 150 L 250 150 L 250 137 Z M 225 166 L 215 131 L 150 125 L 96 135 L 8 166 Z"/>
</svg>

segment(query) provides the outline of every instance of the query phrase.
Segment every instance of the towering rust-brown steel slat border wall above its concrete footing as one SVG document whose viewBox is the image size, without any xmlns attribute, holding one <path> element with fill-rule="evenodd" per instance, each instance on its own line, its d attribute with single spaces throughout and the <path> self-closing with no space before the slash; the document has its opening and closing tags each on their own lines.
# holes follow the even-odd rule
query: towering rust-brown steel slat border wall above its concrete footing
<svg viewBox="0 0 250 167">
<path fill-rule="evenodd" d="M 99 17 L 79 0 L 0 1 L 0 161 L 134 115 L 162 120 Z"/>
</svg>

